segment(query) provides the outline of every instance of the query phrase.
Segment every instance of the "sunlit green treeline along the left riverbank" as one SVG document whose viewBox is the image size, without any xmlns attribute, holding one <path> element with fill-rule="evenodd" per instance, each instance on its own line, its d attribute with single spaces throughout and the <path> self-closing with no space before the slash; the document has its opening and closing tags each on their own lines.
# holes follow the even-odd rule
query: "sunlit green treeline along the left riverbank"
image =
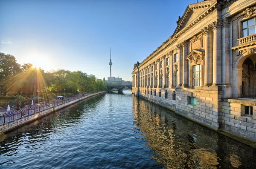
<svg viewBox="0 0 256 169">
<path fill-rule="evenodd" d="M 106 84 L 81 71 L 58 69 L 45 72 L 31 63 L 20 65 L 14 56 L 0 53 L 0 86 L 2 95 L 33 93 L 76 93 L 105 90 Z"/>
</svg>

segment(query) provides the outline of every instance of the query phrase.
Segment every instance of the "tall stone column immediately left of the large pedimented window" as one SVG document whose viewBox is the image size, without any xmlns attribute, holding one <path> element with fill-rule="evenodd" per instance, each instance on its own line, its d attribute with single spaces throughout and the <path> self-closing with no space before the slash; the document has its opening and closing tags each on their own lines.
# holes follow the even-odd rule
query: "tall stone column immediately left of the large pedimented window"
<svg viewBox="0 0 256 169">
<path fill-rule="evenodd" d="M 181 45 L 183 46 L 183 56 L 182 56 L 182 72 L 183 72 L 183 76 L 182 76 L 182 86 L 184 88 L 188 87 L 188 60 L 186 60 L 186 56 L 187 54 L 187 42 L 184 41 L 181 43 Z"/>
</svg>

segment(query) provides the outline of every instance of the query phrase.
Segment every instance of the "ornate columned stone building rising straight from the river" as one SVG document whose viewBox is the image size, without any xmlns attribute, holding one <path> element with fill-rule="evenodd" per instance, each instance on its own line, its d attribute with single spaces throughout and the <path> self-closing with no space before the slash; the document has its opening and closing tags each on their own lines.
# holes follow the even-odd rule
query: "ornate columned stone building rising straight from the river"
<svg viewBox="0 0 256 169">
<path fill-rule="evenodd" d="M 172 36 L 134 64 L 132 92 L 256 141 L 256 1 L 187 6 Z"/>
</svg>

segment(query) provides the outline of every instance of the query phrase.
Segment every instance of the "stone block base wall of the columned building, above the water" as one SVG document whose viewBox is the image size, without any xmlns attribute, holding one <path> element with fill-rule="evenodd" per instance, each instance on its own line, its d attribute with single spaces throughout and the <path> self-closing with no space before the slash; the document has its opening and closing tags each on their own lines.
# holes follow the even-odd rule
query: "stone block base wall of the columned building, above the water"
<svg viewBox="0 0 256 169">
<path fill-rule="evenodd" d="M 221 99 L 222 91 L 218 90 L 140 88 L 140 92 L 133 89 L 133 93 L 215 131 L 256 142 L 255 100 L 224 100 Z M 195 97 L 195 104 L 189 103 L 189 97 Z M 253 109 L 253 116 L 243 113 L 244 106 L 248 105 Z"/>
</svg>

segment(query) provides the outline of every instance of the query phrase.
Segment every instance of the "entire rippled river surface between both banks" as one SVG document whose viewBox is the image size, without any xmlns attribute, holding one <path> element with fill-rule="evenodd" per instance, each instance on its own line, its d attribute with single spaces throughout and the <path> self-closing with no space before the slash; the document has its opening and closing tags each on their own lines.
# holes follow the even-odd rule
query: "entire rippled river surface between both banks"
<svg viewBox="0 0 256 169">
<path fill-rule="evenodd" d="M 1 135 L 0 168 L 254 169 L 256 149 L 124 91 Z"/>
</svg>

